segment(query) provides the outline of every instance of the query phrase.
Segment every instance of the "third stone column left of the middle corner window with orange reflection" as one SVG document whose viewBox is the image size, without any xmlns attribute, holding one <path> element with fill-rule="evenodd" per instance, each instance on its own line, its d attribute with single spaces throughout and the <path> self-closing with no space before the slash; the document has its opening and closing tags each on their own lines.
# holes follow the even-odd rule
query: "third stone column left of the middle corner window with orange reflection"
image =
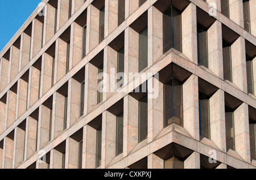
<svg viewBox="0 0 256 180">
<path fill-rule="evenodd" d="M 115 158 L 117 117 L 105 111 L 102 113 L 102 152 L 101 168 L 106 168 Z"/>
</svg>

